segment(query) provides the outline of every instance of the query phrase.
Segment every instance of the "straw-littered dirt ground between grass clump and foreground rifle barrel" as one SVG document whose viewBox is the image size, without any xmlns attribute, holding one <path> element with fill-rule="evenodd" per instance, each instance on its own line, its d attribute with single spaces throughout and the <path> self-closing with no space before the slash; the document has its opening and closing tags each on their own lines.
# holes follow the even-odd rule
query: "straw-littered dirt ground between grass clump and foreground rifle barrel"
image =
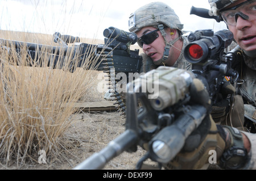
<svg viewBox="0 0 256 181">
<path fill-rule="evenodd" d="M 124 131 L 125 117 L 121 116 L 119 112 L 81 112 L 73 116 L 73 123 L 68 131 L 65 132 L 63 142 L 66 150 L 61 156 L 64 160 L 56 160 L 46 164 L 38 163 L 24 166 L 22 169 L 74 169 L 86 158 L 104 149 L 110 141 L 114 140 Z M 145 153 L 139 146 L 135 153 L 123 152 L 106 163 L 103 170 L 134 170 L 137 162 Z M 148 165 L 155 165 L 151 161 L 146 163 Z"/>
</svg>

